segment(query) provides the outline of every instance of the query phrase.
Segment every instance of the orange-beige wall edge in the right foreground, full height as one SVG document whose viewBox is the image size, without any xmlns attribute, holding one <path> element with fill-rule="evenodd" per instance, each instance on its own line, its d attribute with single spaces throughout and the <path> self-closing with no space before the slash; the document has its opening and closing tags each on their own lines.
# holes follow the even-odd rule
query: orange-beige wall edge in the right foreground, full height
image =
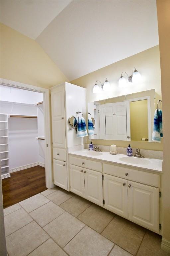
<svg viewBox="0 0 170 256">
<path fill-rule="evenodd" d="M 163 238 L 170 246 L 170 1 L 157 1 L 163 114 Z"/>
</svg>

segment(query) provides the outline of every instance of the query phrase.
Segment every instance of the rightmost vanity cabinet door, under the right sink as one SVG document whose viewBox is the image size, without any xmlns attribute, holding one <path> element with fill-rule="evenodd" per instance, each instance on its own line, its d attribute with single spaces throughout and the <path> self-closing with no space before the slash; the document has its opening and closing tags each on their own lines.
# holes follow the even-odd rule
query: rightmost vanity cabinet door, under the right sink
<svg viewBox="0 0 170 256">
<path fill-rule="evenodd" d="M 159 189 L 128 181 L 128 217 L 159 232 Z"/>
</svg>

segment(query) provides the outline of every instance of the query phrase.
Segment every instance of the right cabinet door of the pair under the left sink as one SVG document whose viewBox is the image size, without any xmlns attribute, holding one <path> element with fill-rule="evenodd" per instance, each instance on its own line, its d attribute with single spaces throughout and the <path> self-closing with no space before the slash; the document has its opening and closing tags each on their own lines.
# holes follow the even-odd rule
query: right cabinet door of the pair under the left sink
<svg viewBox="0 0 170 256">
<path fill-rule="evenodd" d="M 102 173 L 84 169 L 85 198 L 103 206 Z"/>
</svg>

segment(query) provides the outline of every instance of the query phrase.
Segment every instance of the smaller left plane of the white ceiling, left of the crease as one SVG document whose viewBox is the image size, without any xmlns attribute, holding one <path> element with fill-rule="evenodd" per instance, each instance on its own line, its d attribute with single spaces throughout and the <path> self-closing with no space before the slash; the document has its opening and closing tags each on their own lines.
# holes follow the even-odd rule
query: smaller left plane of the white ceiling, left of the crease
<svg viewBox="0 0 170 256">
<path fill-rule="evenodd" d="M 1 22 L 36 39 L 70 2 L 67 0 L 1 0 Z"/>
</svg>

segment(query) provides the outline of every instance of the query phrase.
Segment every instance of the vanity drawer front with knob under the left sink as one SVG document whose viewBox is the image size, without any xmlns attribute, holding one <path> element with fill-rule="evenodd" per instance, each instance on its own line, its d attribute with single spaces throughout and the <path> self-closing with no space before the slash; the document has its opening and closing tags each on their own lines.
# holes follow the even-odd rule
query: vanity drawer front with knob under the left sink
<svg viewBox="0 0 170 256">
<path fill-rule="evenodd" d="M 100 163 L 100 162 L 95 162 L 95 161 L 91 161 L 88 159 L 70 156 L 69 163 L 77 165 L 77 166 L 82 166 L 83 168 L 102 172 L 102 163 Z"/>
</svg>

